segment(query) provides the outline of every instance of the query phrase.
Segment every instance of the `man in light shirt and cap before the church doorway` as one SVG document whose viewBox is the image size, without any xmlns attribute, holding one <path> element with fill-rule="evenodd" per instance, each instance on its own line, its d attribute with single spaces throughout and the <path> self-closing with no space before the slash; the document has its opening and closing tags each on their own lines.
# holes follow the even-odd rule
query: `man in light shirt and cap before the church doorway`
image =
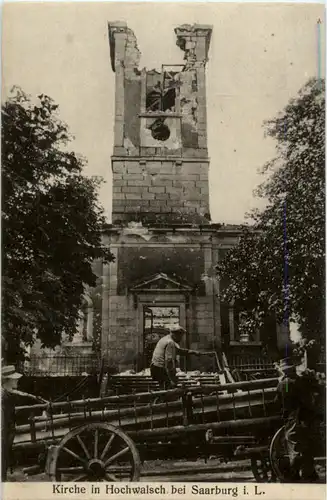
<svg viewBox="0 0 327 500">
<path fill-rule="evenodd" d="M 169 328 L 169 334 L 162 337 L 152 355 L 151 376 L 153 380 L 159 382 L 162 389 L 172 389 L 177 386 L 178 378 L 176 376 L 177 356 L 188 356 L 194 354 L 200 356 L 199 351 L 182 349 L 179 344 L 185 334 L 185 329 L 179 325 Z M 210 353 L 211 354 L 211 353 Z"/>
</svg>

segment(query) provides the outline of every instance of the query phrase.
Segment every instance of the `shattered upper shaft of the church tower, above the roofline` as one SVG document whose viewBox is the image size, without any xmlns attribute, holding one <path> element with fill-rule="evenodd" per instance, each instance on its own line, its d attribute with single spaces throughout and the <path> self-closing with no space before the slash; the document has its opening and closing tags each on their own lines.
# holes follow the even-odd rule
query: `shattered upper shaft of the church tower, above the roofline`
<svg viewBox="0 0 327 500">
<path fill-rule="evenodd" d="M 139 69 L 133 31 L 109 24 L 116 75 L 113 224 L 210 221 L 205 66 L 211 31 L 179 26 L 184 64 L 148 71 Z"/>
</svg>

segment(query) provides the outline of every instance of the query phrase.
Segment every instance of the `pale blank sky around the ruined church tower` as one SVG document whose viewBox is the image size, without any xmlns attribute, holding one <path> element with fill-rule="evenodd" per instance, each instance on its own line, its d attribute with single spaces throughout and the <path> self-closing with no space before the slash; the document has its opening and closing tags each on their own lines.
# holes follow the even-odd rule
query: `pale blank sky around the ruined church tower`
<svg viewBox="0 0 327 500">
<path fill-rule="evenodd" d="M 3 94 L 19 85 L 59 104 L 76 137 L 75 151 L 88 159 L 86 173 L 106 180 L 101 201 L 110 220 L 115 80 L 107 22 L 128 23 L 142 52 L 141 67 L 148 69 L 182 62 L 176 25 L 211 24 L 211 215 L 215 222 L 237 223 L 256 203 L 258 168 L 274 155 L 263 121 L 317 76 L 319 17 L 324 20 L 323 4 L 5 4 Z"/>
</svg>

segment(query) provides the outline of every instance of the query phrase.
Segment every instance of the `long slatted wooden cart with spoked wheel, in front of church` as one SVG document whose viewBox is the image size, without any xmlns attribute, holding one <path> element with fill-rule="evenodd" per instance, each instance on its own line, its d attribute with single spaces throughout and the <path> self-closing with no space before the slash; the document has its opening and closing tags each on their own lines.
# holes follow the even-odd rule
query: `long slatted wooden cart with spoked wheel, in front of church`
<svg viewBox="0 0 327 500">
<path fill-rule="evenodd" d="M 281 425 L 276 386 L 271 378 L 20 407 L 28 423 L 17 426 L 14 450 L 39 457 L 51 481 L 137 481 L 143 460 L 235 460 L 243 447 L 265 480 Z"/>
</svg>

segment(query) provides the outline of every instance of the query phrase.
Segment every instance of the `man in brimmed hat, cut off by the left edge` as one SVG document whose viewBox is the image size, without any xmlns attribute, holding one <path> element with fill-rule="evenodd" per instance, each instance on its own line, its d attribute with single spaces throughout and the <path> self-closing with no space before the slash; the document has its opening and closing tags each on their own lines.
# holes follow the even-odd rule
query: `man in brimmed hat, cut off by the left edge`
<svg viewBox="0 0 327 500">
<path fill-rule="evenodd" d="M 22 377 L 15 367 L 2 366 L 1 370 L 1 481 L 7 480 L 7 471 L 12 463 L 12 445 L 15 436 L 15 404 L 12 390 L 17 389 L 18 380 Z"/>
</svg>

